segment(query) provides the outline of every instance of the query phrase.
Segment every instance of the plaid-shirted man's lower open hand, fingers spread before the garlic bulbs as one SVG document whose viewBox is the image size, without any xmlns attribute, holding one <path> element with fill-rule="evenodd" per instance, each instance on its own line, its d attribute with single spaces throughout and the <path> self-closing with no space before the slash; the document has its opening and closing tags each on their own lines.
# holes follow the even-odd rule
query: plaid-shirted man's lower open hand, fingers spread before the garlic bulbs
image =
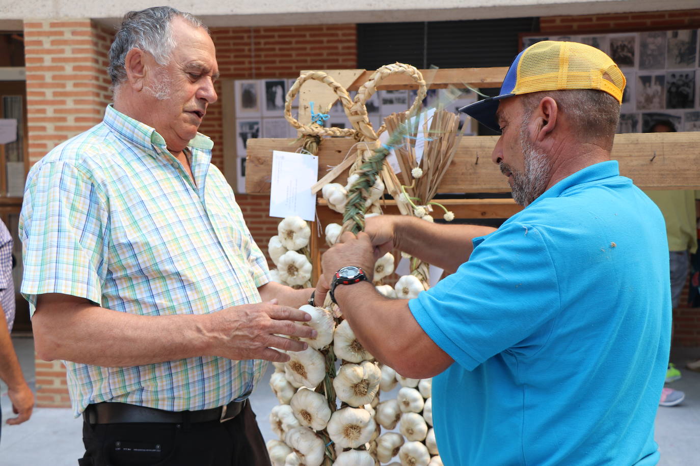
<svg viewBox="0 0 700 466">
<path fill-rule="evenodd" d="M 211 354 L 224 358 L 285 363 L 289 356 L 272 348 L 303 351 L 308 345 L 297 339 L 316 337 L 316 330 L 296 323 L 309 321 L 309 314 L 293 307 L 279 306 L 277 300 L 229 307 L 209 315 L 214 319 Z"/>
</svg>

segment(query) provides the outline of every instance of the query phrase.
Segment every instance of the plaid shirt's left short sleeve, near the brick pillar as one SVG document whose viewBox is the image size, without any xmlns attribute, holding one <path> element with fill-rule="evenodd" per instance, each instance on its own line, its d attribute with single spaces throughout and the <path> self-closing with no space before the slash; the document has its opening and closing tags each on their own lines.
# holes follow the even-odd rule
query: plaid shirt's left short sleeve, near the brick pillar
<svg viewBox="0 0 700 466">
<path fill-rule="evenodd" d="M 22 207 L 22 295 L 62 293 L 101 305 L 106 273 L 105 202 L 75 166 L 44 163 L 31 176 Z"/>
</svg>

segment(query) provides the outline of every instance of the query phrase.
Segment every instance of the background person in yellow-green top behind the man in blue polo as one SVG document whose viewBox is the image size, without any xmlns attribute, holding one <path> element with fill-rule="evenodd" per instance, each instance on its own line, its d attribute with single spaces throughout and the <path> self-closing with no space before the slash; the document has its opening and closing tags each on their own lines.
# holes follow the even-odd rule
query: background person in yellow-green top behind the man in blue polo
<svg viewBox="0 0 700 466">
<path fill-rule="evenodd" d="M 675 125 L 669 120 L 659 120 L 646 129 L 647 133 L 675 133 Z M 668 238 L 668 262 L 671 272 L 671 305 L 673 310 L 680 303 L 680 293 L 689 276 L 690 254 L 697 251 L 696 214 L 700 191 L 689 189 L 647 190 L 647 196 L 659 206 L 666 221 Z M 673 325 L 675 328 L 675 324 Z M 680 370 L 668 363 L 666 384 L 680 379 Z M 675 406 L 685 399 L 685 393 L 664 387 L 661 391 L 661 406 Z"/>
</svg>

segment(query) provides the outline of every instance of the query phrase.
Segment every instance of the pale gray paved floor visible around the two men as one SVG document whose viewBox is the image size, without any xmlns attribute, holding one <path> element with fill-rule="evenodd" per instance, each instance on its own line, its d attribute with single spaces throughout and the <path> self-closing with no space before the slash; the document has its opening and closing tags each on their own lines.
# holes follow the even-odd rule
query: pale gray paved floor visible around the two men
<svg viewBox="0 0 700 466">
<path fill-rule="evenodd" d="M 27 379 L 34 386 L 34 349 L 31 338 L 13 338 Z M 669 384 L 685 391 L 685 401 L 676 407 L 659 407 L 656 438 L 661 451 L 661 466 L 700 464 L 700 373 L 685 370 L 685 361 L 700 358 L 700 348 L 675 348 L 671 361 L 682 372 L 682 379 Z M 266 380 L 269 377 L 265 378 Z M 11 416 L 6 388 L 0 387 L 3 421 Z M 276 405 L 267 384 L 261 384 L 251 396 L 265 439 L 274 438 L 267 414 Z M 0 442 L 2 466 L 75 466 L 82 456 L 82 420 L 74 419 L 70 409 L 39 408 L 21 425 L 3 425 Z"/>
</svg>

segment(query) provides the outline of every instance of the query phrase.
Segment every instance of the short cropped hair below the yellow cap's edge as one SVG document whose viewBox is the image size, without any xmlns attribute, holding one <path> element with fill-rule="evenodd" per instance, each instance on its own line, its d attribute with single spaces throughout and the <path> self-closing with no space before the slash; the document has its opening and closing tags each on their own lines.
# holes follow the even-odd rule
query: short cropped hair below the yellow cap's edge
<svg viewBox="0 0 700 466">
<path fill-rule="evenodd" d="M 540 101 L 550 96 L 559 112 L 566 115 L 582 141 L 609 140 L 615 137 L 619 120 L 619 102 L 607 92 L 596 89 L 541 91 L 520 97 L 528 120 Z"/>
</svg>

